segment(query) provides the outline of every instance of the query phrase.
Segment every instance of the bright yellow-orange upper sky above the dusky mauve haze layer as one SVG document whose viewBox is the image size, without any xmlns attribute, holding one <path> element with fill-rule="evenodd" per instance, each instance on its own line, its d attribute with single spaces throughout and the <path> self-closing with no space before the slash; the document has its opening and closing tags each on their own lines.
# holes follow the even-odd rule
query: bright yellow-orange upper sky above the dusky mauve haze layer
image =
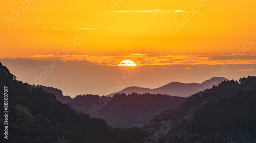
<svg viewBox="0 0 256 143">
<path fill-rule="evenodd" d="M 75 34 L 87 39 L 70 54 L 99 57 L 230 55 L 243 48 L 245 39 L 256 41 L 256 1 L 251 0 L 114 0 L 120 3 L 113 6 L 109 0 L 33 1 L 2 2 L 0 58 L 56 55 Z M 198 6 L 177 30 L 175 22 L 182 24 L 182 15 Z M 246 54 L 255 52 L 251 48 Z"/>
</svg>

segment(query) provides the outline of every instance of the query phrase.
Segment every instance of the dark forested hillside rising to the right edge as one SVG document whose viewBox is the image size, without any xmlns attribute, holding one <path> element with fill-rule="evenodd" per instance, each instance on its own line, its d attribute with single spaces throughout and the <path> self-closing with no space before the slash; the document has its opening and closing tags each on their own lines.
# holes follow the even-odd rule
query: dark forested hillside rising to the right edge
<svg viewBox="0 0 256 143">
<path fill-rule="evenodd" d="M 142 129 L 153 134 L 146 142 L 255 142 L 255 103 L 255 76 L 223 81 L 163 111 Z M 161 130 L 163 123 L 169 128 Z"/>
</svg>

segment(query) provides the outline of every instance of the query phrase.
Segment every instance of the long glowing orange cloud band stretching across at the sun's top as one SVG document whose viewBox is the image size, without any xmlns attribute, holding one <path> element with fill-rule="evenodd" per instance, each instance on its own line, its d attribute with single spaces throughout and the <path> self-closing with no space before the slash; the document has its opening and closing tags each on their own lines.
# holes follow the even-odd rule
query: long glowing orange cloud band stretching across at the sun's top
<svg viewBox="0 0 256 143">
<path fill-rule="evenodd" d="M 241 56 L 240 60 L 235 57 Z M 243 55 L 160 55 L 132 53 L 122 56 L 95 55 L 33 55 L 31 59 L 56 59 L 62 61 L 90 61 L 98 65 L 117 66 L 121 61 L 131 60 L 137 65 L 230 65 L 256 64 L 256 54 Z M 247 70 L 248 71 L 248 70 Z M 250 69 L 251 71 L 251 69 Z"/>
</svg>

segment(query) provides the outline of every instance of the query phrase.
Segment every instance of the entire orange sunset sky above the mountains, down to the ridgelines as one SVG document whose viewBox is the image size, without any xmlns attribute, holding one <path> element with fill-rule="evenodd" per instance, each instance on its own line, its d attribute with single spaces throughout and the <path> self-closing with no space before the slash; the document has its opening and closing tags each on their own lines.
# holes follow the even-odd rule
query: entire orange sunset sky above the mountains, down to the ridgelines
<svg viewBox="0 0 256 143">
<path fill-rule="evenodd" d="M 203 82 L 223 65 L 229 79 L 255 75 L 256 1 L 2 3 L 0 62 L 19 80 L 33 84 L 34 74 L 56 60 L 59 66 L 41 84 L 73 97 L 102 95 L 118 81 L 123 88 Z M 118 67 L 124 60 L 142 66 L 129 82 L 121 76 L 127 69 Z"/>
</svg>

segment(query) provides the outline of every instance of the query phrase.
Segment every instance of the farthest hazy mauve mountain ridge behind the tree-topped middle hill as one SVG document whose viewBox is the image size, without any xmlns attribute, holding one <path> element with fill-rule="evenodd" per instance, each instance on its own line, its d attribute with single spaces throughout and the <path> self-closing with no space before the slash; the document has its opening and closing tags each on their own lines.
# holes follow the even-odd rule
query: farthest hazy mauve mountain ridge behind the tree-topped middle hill
<svg viewBox="0 0 256 143">
<path fill-rule="evenodd" d="M 200 91 L 204 91 L 206 89 L 212 88 L 214 85 L 218 85 L 224 80 L 228 80 L 224 77 L 212 77 L 209 80 L 205 80 L 202 83 L 181 83 L 181 82 L 170 82 L 166 85 L 163 85 L 160 88 L 156 89 L 148 89 L 148 88 L 140 88 L 140 87 L 128 87 L 124 90 L 121 90 L 116 93 L 109 94 L 108 96 L 113 96 L 117 93 L 125 93 L 131 94 L 136 92 L 138 94 L 143 93 L 151 93 L 151 94 L 167 94 L 172 96 L 180 96 L 180 97 L 187 97 L 198 93 Z"/>
</svg>

